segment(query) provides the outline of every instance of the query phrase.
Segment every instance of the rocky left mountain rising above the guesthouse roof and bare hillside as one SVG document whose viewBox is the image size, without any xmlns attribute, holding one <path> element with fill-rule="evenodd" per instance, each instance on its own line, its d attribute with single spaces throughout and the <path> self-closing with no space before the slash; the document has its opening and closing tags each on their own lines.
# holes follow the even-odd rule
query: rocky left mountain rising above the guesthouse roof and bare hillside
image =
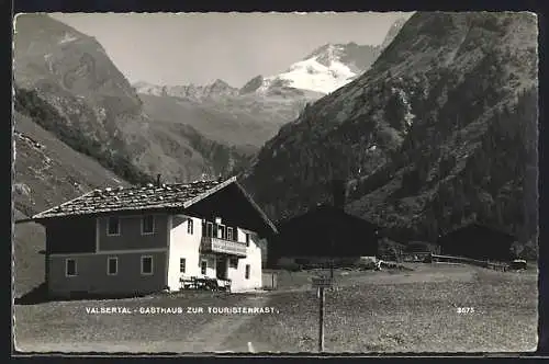
<svg viewBox="0 0 549 364">
<path fill-rule="evenodd" d="M 21 110 L 34 122 L 130 182 L 228 174 L 247 158 L 190 125 L 148 116 L 93 37 L 47 15 L 16 18 L 14 77 Z"/>
</svg>

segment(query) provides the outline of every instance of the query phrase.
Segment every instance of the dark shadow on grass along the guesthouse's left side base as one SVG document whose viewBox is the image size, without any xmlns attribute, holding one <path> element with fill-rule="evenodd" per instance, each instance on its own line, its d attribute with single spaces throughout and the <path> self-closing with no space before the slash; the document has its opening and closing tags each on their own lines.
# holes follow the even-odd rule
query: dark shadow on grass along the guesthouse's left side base
<svg viewBox="0 0 549 364">
<path fill-rule="evenodd" d="M 148 294 L 116 294 L 116 295 L 99 295 L 90 294 L 87 292 L 71 293 L 67 297 L 53 297 L 48 295 L 47 285 L 42 283 L 41 285 L 29 291 L 21 297 L 15 297 L 15 305 L 38 305 L 49 302 L 71 302 L 71 300 L 89 300 L 89 299 L 124 299 L 124 298 L 142 298 L 149 296 Z"/>
</svg>

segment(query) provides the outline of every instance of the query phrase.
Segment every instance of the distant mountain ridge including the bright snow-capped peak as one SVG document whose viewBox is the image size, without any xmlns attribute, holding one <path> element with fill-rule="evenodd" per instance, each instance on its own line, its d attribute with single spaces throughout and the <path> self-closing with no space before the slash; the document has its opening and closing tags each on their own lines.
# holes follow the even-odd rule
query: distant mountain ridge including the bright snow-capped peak
<svg viewBox="0 0 549 364">
<path fill-rule="evenodd" d="M 384 44 L 390 44 L 402 23 L 403 20 L 393 24 Z M 305 83 L 309 82 L 307 79 L 316 77 L 321 83 L 327 82 L 329 86 L 332 82 L 328 90 L 330 91 L 366 70 L 382 49 L 381 46 L 359 46 L 356 43 L 336 46 L 343 48 L 335 49 L 334 45 L 327 44 L 313 49 L 304 58 L 310 58 L 307 61 L 312 62 L 310 66 L 314 66 L 313 68 L 321 68 L 316 76 L 309 75 L 305 70 L 305 79 L 302 79 Z M 313 60 L 315 57 L 320 57 L 321 62 Z M 334 83 L 329 67 L 323 66 L 322 62 L 335 62 L 336 69 L 346 70 L 348 77 Z M 294 69 L 300 73 L 303 67 L 298 64 L 294 64 Z M 278 76 L 265 78 L 260 75 L 251 78 L 240 89 L 223 80 L 204 86 L 157 86 L 139 81 L 133 87 L 148 116 L 161 121 L 183 121 L 213 140 L 247 150 L 250 150 L 249 145 L 251 149 L 255 148 L 254 152 L 274 136 L 282 125 L 298 117 L 309 103 L 326 94 L 311 87 L 295 87 L 291 81 L 282 80 Z M 214 124 L 214 121 L 217 121 L 217 124 Z M 234 123 L 234 127 L 228 127 L 231 123 Z"/>
</svg>

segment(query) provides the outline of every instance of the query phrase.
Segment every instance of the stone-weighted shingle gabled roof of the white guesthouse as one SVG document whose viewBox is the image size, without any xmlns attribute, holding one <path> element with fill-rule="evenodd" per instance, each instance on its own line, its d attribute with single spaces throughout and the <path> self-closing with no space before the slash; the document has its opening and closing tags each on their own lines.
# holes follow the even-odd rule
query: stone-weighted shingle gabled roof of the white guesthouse
<svg viewBox="0 0 549 364">
<path fill-rule="evenodd" d="M 225 181 L 197 181 L 192 183 L 177 183 L 131 187 L 108 187 L 90 191 L 75 200 L 70 200 L 58 206 L 34 215 L 31 220 L 44 220 L 56 217 L 76 215 L 92 215 L 102 213 L 152 211 L 167 208 L 188 208 L 213 193 L 235 184 L 245 195 L 247 201 L 259 213 L 261 218 L 273 231 L 274 225 L 270 221 L 261 208 L 254 202 L 251 196 L 233 177 Z"/>
</svg>

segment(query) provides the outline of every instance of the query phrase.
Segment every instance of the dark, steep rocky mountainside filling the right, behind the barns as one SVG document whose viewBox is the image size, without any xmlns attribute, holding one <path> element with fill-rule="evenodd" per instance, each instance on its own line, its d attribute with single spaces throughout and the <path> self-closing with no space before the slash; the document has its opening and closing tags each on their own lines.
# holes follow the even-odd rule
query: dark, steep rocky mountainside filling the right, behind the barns
<svg viewBox="0 0 549 364">
<path fill-rule="evenodd" d="M 369 71 L 284 125 L 242 179 L 274 219 L 329 200 L 327 182 L 346 178 L 348 209 L 400 239 L 477 219 L 531 248 L 536 145 L 536 18 L 416 13 Z"/>
</svg>

